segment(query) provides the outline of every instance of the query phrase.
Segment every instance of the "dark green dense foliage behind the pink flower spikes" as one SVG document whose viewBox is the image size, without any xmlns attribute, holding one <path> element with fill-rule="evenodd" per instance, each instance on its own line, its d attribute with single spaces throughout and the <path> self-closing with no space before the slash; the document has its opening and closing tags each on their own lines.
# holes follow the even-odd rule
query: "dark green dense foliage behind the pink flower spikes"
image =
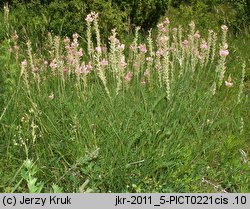
<svg viewBox="0 0 250 209">
<path fill-rule="evenodd" d="M 119 32 L 130 32 L 135 26 L 148 30 L 164 15 L 176 22 L 194 19 L 208 28 L 222 23 L 238 32 L 249 27 L 249 0 L 4 0 L 13 9 L 11 17 L 15 27 L 26 27 L 28 33 L 53 31 L 70 35 L 86 29 L 84 17 L 96 11 L 102 18 L 102 33 L 107 35 L 116 27 Z"/>
</svg>

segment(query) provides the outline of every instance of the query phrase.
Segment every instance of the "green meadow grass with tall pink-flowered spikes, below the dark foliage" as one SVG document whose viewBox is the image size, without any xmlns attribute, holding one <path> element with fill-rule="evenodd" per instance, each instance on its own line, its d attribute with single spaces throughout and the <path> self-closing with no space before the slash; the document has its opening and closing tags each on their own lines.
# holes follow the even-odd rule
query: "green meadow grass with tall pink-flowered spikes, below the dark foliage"
<svg viewBox="0 0 250 209">
<path fill-rule="evenodd" d="M 166 19 L 123 44 L 86 22 L 42 47 L 7 28 L 0 191 L 249 192 L 249 39 Z"/>
</svg>

